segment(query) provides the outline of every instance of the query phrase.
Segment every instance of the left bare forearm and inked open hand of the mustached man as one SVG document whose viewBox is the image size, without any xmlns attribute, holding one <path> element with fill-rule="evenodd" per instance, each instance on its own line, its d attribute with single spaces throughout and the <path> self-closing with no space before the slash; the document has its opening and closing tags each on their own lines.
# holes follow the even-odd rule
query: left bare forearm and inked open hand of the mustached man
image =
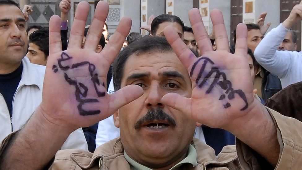
<svg viewBox="0 0 302 170">
<path fill-rule="evenodd" d="M 126 86 L 112 95 L 105 88 L 108 69 L 130 31 L 131 19 L 123 18 L 106 47 L 96 53 L 102 34 L 99 28 L 103 28 L 109 6 L 104 1 L 97 4 L 81 49 L 89 8 L 88 2 L 78 4 L 65 51 L 61 49 L 60 18 L 51 17 L 42 102 L 24 128 L 2 146 L 1 169 L 42 169 L 72 131 L 109 117 L 142 95 L 143 90 L 137 85 Z"/>
</svg>

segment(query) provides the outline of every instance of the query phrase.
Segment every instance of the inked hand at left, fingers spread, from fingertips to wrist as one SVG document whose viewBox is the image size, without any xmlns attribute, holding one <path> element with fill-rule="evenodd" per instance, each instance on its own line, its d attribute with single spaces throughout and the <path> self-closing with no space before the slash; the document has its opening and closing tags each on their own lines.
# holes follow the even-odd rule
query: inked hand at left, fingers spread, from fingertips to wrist
<svg viewBox="0 0 302 170">
<path fill-rule="evenodd" d="M 103 120 L 119 107 L 135 100 L 143 91 L 130 85 L 112 95 L 106 93 L 106 76 L 131 28 L 131 19 L 123 18 L 101 53 L 96 53 L 109 6 L 99 2 L 81 48 L 89 11 L 88 2 L 78 4 L 68 48 L 61 49 L 60 19 L 52 16 L 49 24 L 50 55 L 46 65 L 43 99 L 40 105 L 51 123 L 69 129 L 87 127 Z"/>
</svg>

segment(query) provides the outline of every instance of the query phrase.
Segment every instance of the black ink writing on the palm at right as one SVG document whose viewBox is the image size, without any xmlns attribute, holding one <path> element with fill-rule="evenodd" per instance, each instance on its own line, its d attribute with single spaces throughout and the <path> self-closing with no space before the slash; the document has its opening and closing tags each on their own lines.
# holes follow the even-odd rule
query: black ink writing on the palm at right
<svg viewBox="0 0 302 170">
<path fill-rule="evenodd" d="M 206 82 L 209 80 L 209 78 L 213 75 L 215 75 L 213 82 L 209 85 L 209 88 L 206 90 L 206 94 L 209 94 L 213 89 L 215 85 L 218 85 L 221 87 L 221 89 L 225 90 L 225 94 L 227 94 L 227 98 L 229 100 L 232 100 L 235 98 L 235 94 L 237 94 L 245 103 L 245 106 L 243 108 L 241 108 L 240 110 L 243 111 L 245 109 L 248 108 L 248 101 L 247 98 L 244 94 L 244 92 L 241 89 L 237 89 L 234 90 L 232 88 L 232 83 L 231 81 L 226 79 L 226 74 L 224 72 L 221 72 L 218 67 L 211 67 L 211 70 L 209 71 L 208 74 L 206 74 L 205 76 L 202 76 L 204 71 L 205 71 L 205 67 L 208 64 L 214 65 L 214 62 L 207 58 L 207 57 L 201 57 L 199 58 L 192 66 L 191 72 L 190 72 L 190 76 L 192 77 L 194 70 L 196 69 L 196 66 L 198 63 L 200 63 L 201 61 L 203 61 L 201 68 L 198 72 L 197 78 L 196 78 L 196 86 L 199 88 L 202 88 L 205 86 Z M 222 80 L 221 80 L 222 78 Z M 201 81 L 202 79 L 202 81 Z M 226 98 L 226 95 L 222 94 L 218 100 L 223 100 Z M 224 108 L 228 108 L 231 107 L 231 104 L 229 102 L 227 102 L 226 104 L 223 105 Z"/>
</svg>

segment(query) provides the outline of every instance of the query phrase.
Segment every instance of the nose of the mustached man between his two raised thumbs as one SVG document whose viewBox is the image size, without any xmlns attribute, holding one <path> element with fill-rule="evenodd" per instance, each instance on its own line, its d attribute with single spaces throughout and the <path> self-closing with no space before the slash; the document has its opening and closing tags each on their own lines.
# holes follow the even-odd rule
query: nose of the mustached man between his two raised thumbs
<svg viewBox="0 0 302 170">
<path fill-rule="evenodd" d="M 162 100 L 162 92 L 160 90 L 160 86 L 157 83 L 154 83 L 149 88 L 149 94 L 147 99 L 145 100 L 145 107 L 147 109 L 156 108 L 156 107 L 164 107 L 161 102 Z"/>
</svg>

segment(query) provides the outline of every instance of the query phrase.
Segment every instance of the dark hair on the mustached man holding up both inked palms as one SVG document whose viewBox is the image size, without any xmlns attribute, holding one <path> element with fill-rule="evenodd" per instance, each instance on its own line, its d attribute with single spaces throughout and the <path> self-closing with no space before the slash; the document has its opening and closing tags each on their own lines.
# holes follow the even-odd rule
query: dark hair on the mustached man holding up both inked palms
<svg viewBox="0 0 302 170">
<path fill-rule="evenodd" d="M 165 37 L 148 36 L 143 37 L 138 41 L 133 42 L 123 51 L 119 53 L 112 65 L 112 76 L 114 90 L 119 90 L 121 88 L 121 81 L 123 78 L 123 71 L 125 63 L 129 56 L 136 54 L 150 53 L 150 52 L 167 52 L 173 51 L 172 47 L 168 43 Z"/>
</svg>

